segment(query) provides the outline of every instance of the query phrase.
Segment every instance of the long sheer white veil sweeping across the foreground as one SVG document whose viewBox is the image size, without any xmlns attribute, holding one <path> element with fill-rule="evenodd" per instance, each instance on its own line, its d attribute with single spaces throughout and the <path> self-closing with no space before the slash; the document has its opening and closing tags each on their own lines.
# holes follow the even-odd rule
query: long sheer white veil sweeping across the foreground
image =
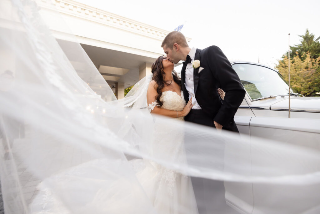
<svg viewBox="0 0 320 214">
<path fill-rule="evenodd" d="M 220 134 L 151 116 L 144 108 L 150 76 L 116 100 L 80 44 L 54 38 L 36 3 L 0 5 L 5 213 L 32 213 L 37 205 L 45 212 L 40 195 L 55 199 L 47 212 L 157 213 L 132 166 L 141 159 L 185 176 L 224 181 L 234 213 L 320 212 L 319 145 Z M 150 153 L 159 138 L 156 127 L 172 130 L 165 139 L 173 149 L 177 142 L 170 133 L 183 133 L 183 159 Z M 196 200 L 207 213 L 221 210 L 210 206 L 210 197 Z M 176 206 L 188 213 L 183 202 Z"/>
</svg>

